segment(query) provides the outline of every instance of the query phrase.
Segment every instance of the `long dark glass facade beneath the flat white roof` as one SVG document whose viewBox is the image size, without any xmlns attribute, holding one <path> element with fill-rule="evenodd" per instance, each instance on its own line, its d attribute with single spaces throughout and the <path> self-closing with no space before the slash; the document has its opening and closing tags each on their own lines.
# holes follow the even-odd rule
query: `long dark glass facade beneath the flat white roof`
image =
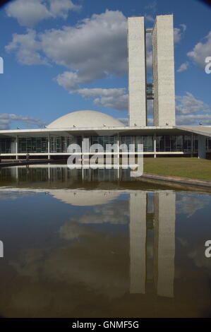
<svg viewBox="0 0 211 332">
<path fill-rule="evenodd" d="M 83 138 L 89 138 L 89 145 L 100 144 L 106 149 L 107 144 L 117 143 L 118 136 L 51 136 L 48 142 L 47 137 L 23 137 L 18 138 L 18 153 L 66 153 L 70 144 L 82 146 Z M 198 136 L 188 135 L 157 135 L 157 152 L 184 152 L 198 153 Z M 119 144 L 126 144 L 129 150 L 130 144 L 135 144 L 137 151 L 138 144 L 143 144 L 144 152 L 154 152 L 154 136 L 119 136 Z M 0 138 L 0 153 L 16 153 L 14 138 Z M 206 140 L 206 150 L 211 152 L 211 138 Z"/>
</svg>

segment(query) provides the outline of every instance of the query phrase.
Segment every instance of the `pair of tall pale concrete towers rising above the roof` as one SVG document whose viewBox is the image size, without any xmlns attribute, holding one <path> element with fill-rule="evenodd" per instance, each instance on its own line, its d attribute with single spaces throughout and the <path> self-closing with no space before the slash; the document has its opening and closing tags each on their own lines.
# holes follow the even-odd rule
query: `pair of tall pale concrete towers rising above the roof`
<svg viewBox="0 0 211 332">
<path fill-rule="evenodd" d="M 147 83 L 146 34 L 152 34 L 153 83 Z M 173 16 L 157 16 L 145 29 L 144 17 L 128 18 L 130 126 L 147 126 L 147 100 L 153 101 L 154 125 L 175 125 Z"/>
</svg>

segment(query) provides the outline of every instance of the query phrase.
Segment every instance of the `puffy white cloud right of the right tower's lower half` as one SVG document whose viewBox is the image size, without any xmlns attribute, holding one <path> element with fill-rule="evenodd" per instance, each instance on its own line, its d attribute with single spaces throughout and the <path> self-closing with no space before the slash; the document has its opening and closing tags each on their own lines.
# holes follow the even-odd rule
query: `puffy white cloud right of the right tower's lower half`
<svg viewBox="0 0 211 332">
<path fill-rule="evenodd" d="M 203 100 L 196 99 L 191 93 L 176 96 L 176 114 L 191 114 L 198 112 L 210 112 L 210 106 Z"/>
</svg>

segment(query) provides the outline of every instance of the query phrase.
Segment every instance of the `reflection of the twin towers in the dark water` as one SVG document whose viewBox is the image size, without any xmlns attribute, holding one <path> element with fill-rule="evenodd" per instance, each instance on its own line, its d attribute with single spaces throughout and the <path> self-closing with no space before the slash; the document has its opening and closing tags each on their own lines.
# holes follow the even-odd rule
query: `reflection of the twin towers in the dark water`
<svg viewBox="0 0 211 332">
<path fill-rule="evenodd" d="M 173 297 L 174 254 L 175 193 L 131 193 L 131 293 Z"/>
</svg>

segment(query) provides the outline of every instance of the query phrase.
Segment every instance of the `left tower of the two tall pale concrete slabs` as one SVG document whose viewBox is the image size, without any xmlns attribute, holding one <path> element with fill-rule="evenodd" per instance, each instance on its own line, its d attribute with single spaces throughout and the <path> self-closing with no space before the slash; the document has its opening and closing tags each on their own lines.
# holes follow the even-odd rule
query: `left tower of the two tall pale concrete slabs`
<svg viewBox="0 0 211 332">
<path fill-rule="evenodd" d="M 145 19 L 128 18 L 128 88 L 130 126 L 147 125 Z"/>
</svg>

